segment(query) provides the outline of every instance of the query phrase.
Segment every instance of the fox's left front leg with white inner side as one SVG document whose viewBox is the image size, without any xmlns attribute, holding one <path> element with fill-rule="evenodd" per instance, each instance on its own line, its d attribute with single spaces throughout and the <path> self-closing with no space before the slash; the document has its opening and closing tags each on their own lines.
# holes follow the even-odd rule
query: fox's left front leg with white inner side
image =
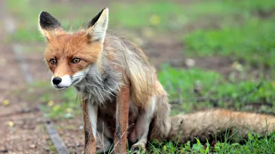
<svg viewBox="0 0 275 154">
<path fill-rule="evenodd" d="M 96 123 L 98 116 L 98 105 L 91 104 L 87 99 L 82 101 L 83 121 L 85 132 L 84 154 L 96 153 Z"/>
</svg>

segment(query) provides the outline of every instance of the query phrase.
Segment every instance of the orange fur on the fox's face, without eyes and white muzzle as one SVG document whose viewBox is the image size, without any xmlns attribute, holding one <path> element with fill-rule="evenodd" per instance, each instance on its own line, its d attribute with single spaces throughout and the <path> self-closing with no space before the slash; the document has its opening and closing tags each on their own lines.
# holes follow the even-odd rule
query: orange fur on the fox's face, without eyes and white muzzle
<svg viewBox="0 0 275 154">
<path fill-rule="evenodd" d="M 98 62 L 102 44 L 98 42 L 89 44 L 88 42 L 89 39 L 85 36 L 85 32 L 61 34 L 52 38 L 47 44 L 44 59 L 54 76 L 74 75 L 91 63 Z M 81 62 L 71 64 L 74 57 L 81 58 Z M 58 65 L 50 64 L 52 58 L 58 59 Z"/>
</svg>

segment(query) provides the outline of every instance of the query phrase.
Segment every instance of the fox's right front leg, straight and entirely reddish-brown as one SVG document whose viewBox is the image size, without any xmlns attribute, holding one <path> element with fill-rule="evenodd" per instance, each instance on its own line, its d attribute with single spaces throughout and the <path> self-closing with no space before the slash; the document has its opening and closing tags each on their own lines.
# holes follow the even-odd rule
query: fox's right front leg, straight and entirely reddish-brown
<svg viewBox="0 0 275 154">
<path fill-rule="evenodd" d="M 129 118 L 130 87 L 122 86 L 117 98 L 114 135 L 115 153 L 126 153 L 127 125 Z"/>
</svg>

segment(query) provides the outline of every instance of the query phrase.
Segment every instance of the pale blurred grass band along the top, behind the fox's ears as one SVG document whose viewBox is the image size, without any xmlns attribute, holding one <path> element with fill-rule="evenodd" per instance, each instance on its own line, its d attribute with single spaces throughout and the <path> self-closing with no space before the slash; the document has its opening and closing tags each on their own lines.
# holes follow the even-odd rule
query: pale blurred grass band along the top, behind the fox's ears
<svg viewBox="0 0 275 154">
<path fill-rule="evenodd" d="M 19 42 L 41 42 L 43 38 L 37 30 L 39 12 L 50 12 L 61 21 L 63 27 L 75 25 L 77 28 L 82 22 L 93 18 L 101 8 L 90 3 L 50 3 L 49 1 L 5 1 L 12 15 L 17 18 L 17 31 L 12 40 Z M 250 5 L 247 5 L 250 4 Z M 79 6 L 79 7 L 75 7 Z M 199 1 L 197 3 L 173 3 L 170 1 L 151 1 L 129 3 L 111 3 L 109 26 L 113 29 L 142 30 L 150 29 L 145 33 L 162 34 L 169 31 L 181 30 L 188 24 L 197 23 L 205 18 L 217 18 L 220 25 L 234 25 L 238 18 L 250 18 L 250 12 L 258 10 L 272 10 L 272 0 L 265 3 L 243 0 L 236 1 Z M 74 21 L 72 21 L 74 18 Z M 135 20 L 133 20 L 135 18 Z M 218 20 L 217 20 L 218 21 Z M 211 21 L 203 21 L 212 25 Z M 148 32 L 151 31 L 151 32 Z M 146 34 L 145 34 L 146 35 Z"/>
</svg>

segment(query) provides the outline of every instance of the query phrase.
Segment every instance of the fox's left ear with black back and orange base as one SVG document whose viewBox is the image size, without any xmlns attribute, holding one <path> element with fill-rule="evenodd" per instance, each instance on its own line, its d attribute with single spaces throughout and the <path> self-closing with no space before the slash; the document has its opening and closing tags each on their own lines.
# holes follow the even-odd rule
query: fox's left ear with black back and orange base
<svg viewBox="0 0 275 154">
<path fill-rule="evenodd" d="M 47 40 L 54 37 L 58 31 L 63 31 L 61 23 L 54 16 L 44 11 L 39 14 L 39 30 Z"/>
</svg>

